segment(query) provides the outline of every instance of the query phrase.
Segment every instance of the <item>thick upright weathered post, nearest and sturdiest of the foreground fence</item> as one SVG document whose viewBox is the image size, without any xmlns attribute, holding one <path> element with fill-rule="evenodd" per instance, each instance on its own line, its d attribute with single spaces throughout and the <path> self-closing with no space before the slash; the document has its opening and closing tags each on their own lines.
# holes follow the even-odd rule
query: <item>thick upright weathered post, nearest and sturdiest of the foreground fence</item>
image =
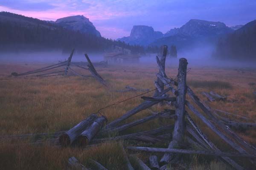
<svg viewBox="0 0 256 170">
<path fill-rule="evenodd" d="M 185 131 L 185 103 L 186 103 L 186 68 L 187 68 L 186 58 L 180 58 L 179 69 L 178 69 L 178 86 L 177 86 L 177 106 L 175 110 L 175 115 L 177 119 L 175 121 L 175 127 L 172 135 L 171 143 L 168 148 L 178 148 L 179 143 L 183 141 L 183 135 Z M 166 153 L 161 158 L 160 163 L 169 163 L 172 159 L 172 154 Z"/>
</svg>

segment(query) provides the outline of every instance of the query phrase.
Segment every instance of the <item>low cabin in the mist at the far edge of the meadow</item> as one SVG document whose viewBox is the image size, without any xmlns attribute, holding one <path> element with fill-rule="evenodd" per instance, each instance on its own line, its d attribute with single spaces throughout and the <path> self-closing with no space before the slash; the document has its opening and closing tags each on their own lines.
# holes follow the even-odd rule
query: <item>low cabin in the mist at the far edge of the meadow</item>
<svg viewBox="0 0 256 170">
<path fill-rule="evenodd" d="M 108 63 L 138 63 L 140 61 L 139 55 L 131 54 L 131 50 L 119 46 L 115 46 L 113 52 L 104 54 L 104 61 Z"/>
</svg>

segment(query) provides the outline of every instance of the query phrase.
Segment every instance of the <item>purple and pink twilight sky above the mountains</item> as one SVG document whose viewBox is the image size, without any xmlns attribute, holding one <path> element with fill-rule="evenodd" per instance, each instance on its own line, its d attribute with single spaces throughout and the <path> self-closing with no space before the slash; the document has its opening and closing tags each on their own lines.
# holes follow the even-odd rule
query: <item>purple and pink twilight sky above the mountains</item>
<svg viewBox="0 0 256 170">
<path fill-rule="evenodd" d="M 103 37 L 116 39 L 134 25 L 163 33 L 190 19 L 244 25 L 256 19 L 256 0 L 0 0 L 0 11 L 52 21 L 84 15 Z"/>
</svg>

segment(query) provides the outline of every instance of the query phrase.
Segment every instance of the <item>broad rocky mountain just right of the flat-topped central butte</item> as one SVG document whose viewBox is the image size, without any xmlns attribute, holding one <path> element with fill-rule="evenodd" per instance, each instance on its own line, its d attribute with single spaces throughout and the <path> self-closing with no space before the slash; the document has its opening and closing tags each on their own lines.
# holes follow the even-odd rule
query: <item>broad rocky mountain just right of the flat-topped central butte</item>
<svg viewBox="0 0 256 170">
<path fill-rule="evenodd" d="M 233 29 L 221 22 L 192 19 L 180 28 L 169 30 L 162 38 L 154 40 L 150 46 L 175 45 L 178 53 L 204 48 L 209 49 L 208 53 L 210 54 L 212 53 L 210 50 L 212 50 L 212 46 L 217 42 L 218 37 L 232 32 Z"/>
</svg>

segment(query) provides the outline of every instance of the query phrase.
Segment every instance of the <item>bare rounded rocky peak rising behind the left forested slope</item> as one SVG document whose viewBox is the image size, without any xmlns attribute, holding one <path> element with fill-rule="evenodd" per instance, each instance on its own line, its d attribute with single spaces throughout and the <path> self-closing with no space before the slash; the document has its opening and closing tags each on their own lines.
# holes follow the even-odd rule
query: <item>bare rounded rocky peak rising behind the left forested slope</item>
<svg viewBox="0 0 256 170">
<path fill-rule="evenodd" d="M 82 33 L 96 35 L 101 37 L 99 31 L 96 30 L 93 23 L 89 21 L 87 17 L 83 15 L 76 15 L 70 17 L 59 18 L 55 21 L 59 26 L 62 26 L 65 29 L 70 29 L 73 31 L 80 31 Z"/>
</svg>

